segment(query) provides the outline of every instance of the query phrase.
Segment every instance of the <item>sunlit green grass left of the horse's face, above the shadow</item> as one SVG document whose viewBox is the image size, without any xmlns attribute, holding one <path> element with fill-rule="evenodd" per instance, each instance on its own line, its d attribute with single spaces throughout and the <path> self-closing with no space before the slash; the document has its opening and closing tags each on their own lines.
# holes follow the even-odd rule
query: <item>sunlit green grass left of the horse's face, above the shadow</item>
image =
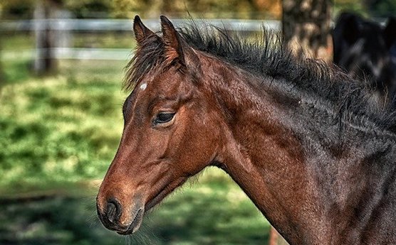
<svg viewBox="0 0 396 245">
<path fill-rule="evenodd" d="M 61 75 L 26 80 L 4 69 L 0 187 L 98 178 L 106 170 L 123 125 L 123 64 L 99 65 L 66 63 Z"/>
</svg>

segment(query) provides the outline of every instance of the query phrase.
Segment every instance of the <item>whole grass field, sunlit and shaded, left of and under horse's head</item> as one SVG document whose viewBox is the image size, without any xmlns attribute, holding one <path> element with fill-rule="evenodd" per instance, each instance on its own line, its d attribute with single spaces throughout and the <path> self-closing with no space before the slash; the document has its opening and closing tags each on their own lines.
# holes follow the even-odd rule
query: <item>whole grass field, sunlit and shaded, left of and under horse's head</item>
<svg viewBox="0 0 396 245">
<path fill-rule="evenodd" d="M 0 244 L 266 244 L 269 223 L 210 168 L 147 216 L 138 234 L 104 229 L 95 195 L 118 147 L 126 62 L 62 61 L 34 77 L 3 62 Z"/>
</svg>

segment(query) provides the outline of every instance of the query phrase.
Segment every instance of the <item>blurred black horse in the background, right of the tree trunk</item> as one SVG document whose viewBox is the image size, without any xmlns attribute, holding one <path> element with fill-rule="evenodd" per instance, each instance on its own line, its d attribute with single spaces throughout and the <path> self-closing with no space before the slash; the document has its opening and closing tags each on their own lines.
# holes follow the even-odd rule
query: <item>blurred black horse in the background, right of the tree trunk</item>
<svg viewBox="0 0 396 245">
<path fill-rule="evenodd" d="M 333 62 L 366 80 L 380 104 L 396 107 L 396 18 L 385 26 L 355 13 L 341 13 L 333 31 Z"/>
</svg>

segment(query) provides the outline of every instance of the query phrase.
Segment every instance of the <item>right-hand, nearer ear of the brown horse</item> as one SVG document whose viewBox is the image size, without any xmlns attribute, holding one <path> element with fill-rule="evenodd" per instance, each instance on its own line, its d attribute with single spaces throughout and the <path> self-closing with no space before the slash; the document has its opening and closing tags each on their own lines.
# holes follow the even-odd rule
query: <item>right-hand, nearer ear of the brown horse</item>
<svg viewBox="0 0 396 245">
<path fill-rule="evenodd" d="M 197 68 L 199 60 L 194 50 L 186 43 L 186 41 L 177 33 L 170 20 L 161 16 L 162 39 L 165 43 L 165 58 L 170 64 L 177 60 L 180 65 L 188 69 Z"/>
</svg>

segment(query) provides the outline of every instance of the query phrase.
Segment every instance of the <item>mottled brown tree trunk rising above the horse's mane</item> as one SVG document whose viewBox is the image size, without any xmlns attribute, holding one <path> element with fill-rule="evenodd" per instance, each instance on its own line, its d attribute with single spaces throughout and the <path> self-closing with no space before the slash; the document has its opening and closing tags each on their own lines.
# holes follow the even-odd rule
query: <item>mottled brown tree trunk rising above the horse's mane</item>
<svg viewBox="0 0 396 245">
<path fill-rule="evenodd" d="M 283 40 L 292 53 L 331 62 L 331 0 L 283 0 Z"/>
</svg>

